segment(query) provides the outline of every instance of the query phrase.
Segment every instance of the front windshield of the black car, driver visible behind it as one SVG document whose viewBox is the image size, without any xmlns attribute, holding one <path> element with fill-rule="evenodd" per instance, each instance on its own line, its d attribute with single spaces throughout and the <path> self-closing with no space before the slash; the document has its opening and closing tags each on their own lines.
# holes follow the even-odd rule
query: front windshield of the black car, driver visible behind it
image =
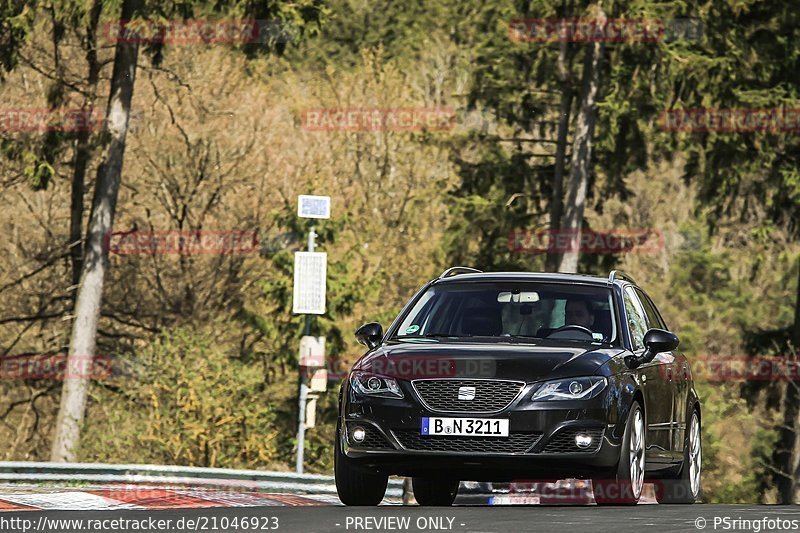
<svg viewBox="0 0 800 533">
<path fill-rule="evenodd" d="M 431 286 L 393 338 L 496 337 L 614 344 L 611 291 L 537 282 L 448 282 Z"/>
</svg>

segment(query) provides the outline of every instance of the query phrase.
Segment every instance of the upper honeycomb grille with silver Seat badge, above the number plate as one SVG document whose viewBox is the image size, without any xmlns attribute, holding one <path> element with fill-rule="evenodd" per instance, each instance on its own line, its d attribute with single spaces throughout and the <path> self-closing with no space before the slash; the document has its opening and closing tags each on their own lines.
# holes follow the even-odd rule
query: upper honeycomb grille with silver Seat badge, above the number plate
<svg viewBox="0 0 800 533">
<path fill-rule="evenodd" d="M 514 401 L 525 386 L 519 381 L 493 379 L 418 379 L 412 381 L 420 399 L 433 411 L 493 413 Z M 474 387 L 475 398 L 459 400 L 461 387 Z"/>
</svg>

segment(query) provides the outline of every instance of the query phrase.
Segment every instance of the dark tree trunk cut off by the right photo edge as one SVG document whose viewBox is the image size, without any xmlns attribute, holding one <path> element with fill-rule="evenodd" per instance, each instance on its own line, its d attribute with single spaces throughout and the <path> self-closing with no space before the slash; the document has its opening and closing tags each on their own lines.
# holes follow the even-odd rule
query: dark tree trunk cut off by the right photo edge
<svg viewBox="0 0 800 533">
<path fill-rule="evenodd" d="M 800 258 L 797 269 L 797 299 L 794 308 L 794 328 L 792 330 L 791 354 L 800 356 Z M 778 497 L 780 503 L 800 503 L 800 418 L 798 417 L 798 394 L 800 383 L 795 380 L 786 381 L 783 396 L 783 424 L 780 430 L 778 445 L 778 468 L 783 475 L 778 479 Z"/>
</svg>

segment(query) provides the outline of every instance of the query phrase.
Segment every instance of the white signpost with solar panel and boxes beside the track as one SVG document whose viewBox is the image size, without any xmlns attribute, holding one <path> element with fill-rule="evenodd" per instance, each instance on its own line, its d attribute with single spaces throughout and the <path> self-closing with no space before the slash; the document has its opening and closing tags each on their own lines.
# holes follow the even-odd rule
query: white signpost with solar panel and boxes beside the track
<svg viewBox="0 0 800 533">
<path fill-rule="evenodd" d="M 297 197 L 297 216 L 300 218 L 330 218 L 330 196 L 301 194 Z M 292 312 L 306 315 L 306 336 L 300 342 L 300 398 L 297 420 L 297 460 L 295 463 L 295 470 L 300 474 L 303 473 L 306 427 L 314 427 L 316 413 L 316 396 L 312 395 L 309 401 L 308 379 L 303 374 L 316 370 L 314 375 L 316 379 L 312 380 L 312 390 L 324 390 L 323 384 L 320 383 L 324 374 L 321 373 L 319 367 L 324 366 L 325 337 L 310 336 L 310 315 L 325 314 L 325 279 L 328 272 L 328 254 L 314 251 L 316 236 L 314 226 L 311 226 L 308 232 L 308 251 L 294 254 Z M 320 373 L 319 376 L 316 375 L 317 372 Z M 327 385 L 326 375 L 325 385 Z M 306 403 L 309 404 L 308 412 Z"/>
</svg>

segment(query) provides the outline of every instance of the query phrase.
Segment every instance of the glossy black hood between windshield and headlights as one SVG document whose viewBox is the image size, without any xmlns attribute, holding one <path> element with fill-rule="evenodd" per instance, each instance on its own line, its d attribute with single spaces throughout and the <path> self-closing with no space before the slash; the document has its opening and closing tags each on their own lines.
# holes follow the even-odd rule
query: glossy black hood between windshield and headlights
<svg viewBox="0 0 800 533">
<path fill-rule="evenodd" d="M 392 342 L 367 353 L 354 366 L 399 379 L 484 378 L 533 382 L 591 376 L 621 348 L 575 343 L 507 344 Z"/>
</svg>

